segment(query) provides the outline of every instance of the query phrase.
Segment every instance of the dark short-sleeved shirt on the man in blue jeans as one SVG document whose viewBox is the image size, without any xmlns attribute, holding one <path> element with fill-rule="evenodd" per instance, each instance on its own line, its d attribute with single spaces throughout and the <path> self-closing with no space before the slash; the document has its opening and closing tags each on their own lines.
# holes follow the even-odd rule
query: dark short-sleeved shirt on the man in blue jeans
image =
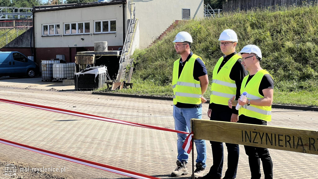
<svg viewBox="0 0 318 179">
<path fill-rule="evenodd" d="M 187 61 L 189 61 L 190 57 L 193 55 L 193 53 L 191 52 L 188 56 L 188 58 L 182 62 L 182 59 L 180 58 L 180 61 L 179 61 L 179 74 L 178 74 L 178 78 L 180 78 L 180 75 L 181 75 L 181 72 L 183 70 L 183 67 L 185 65 L 185 63 Z M 200 58 L 197 58 L 196 61 L 194 62 L 194 67 L 193 67 L 193 78 L 197 81 L 199 81 L 199 77 L 200 76 L 204 76 L 204 75 L 207 75 L 208 74 L 208 71 L 206 70 L 206 67 L 204 65 L 204 62 L 200 59 Z M 186 104 L 186 103 L 177 103 L 176 104 L 176 107 L 178 108 L 200 108 L 202 107 L 202 104 Z"/>
</svg>

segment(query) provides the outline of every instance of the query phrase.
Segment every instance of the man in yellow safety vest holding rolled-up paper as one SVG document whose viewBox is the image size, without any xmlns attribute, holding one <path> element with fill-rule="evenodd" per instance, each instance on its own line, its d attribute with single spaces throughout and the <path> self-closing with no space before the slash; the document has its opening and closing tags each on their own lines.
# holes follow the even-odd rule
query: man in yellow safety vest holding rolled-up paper
<svg viewBox="0 0 318 179">
<path fill-rule="evenodd" d="M 243 101 L 228 101 L 230 108 L 241 105 L 239 109 L 239 122 L 245 124 L 267 125 L 271 121 L 271 111 L 274 92 L 274 79 L 266 70 L 260 67 L 262 53 L 259 47 L 247 45 L 239 52 L 242 64 L 249 75 L 243 79 L 241 94 L 247 92 Z M 267 148 L 244 146 L 245 153 L 251 169 L 251 179 L 259 179 L 260 160 L 262 160 L 265 179 L 273 179 L 273 162 Z"/>
</svg>

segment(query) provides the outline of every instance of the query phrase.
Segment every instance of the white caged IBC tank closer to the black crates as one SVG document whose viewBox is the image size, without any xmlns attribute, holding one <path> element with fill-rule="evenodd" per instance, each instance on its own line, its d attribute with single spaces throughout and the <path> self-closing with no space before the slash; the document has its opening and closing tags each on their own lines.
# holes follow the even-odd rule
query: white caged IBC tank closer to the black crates
<svg viewBox="0 0 318 179">
<path fill-rule="evenodd" d="M 54 63 L 53 79 L 65 80 L 74 78 L 75 63 Z"/>
</svg>

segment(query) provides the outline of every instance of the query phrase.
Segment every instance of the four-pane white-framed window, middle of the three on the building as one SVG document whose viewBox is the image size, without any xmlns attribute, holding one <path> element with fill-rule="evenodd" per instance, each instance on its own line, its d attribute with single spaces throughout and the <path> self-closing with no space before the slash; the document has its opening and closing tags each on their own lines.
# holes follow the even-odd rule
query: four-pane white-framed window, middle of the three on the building
<svg viewBox="0 0 318 179">
<path fill-rule="evenodd" d="M 89 34 L 89 22 L 64 23 L 64 35 Z"/>
</svg>

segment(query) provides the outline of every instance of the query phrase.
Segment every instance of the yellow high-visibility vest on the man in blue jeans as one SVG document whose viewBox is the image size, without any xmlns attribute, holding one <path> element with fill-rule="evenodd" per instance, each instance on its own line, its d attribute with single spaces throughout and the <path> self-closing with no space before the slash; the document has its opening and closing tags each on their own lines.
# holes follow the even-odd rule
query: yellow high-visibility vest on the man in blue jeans
<svg viewBox="0 0 318 179">
<path fill-rule="evenodd" d="M 202 60 L 201 57 L 192 54 L 189 61 L 185 63 L 179 78 L 180 59 L 174 62 L 172 74 L 173 104 L 177 104 L 177 102 L 201 104 L 201 83 L 193 77 L 194 62 L 197 58 Z"/>
</svg>

